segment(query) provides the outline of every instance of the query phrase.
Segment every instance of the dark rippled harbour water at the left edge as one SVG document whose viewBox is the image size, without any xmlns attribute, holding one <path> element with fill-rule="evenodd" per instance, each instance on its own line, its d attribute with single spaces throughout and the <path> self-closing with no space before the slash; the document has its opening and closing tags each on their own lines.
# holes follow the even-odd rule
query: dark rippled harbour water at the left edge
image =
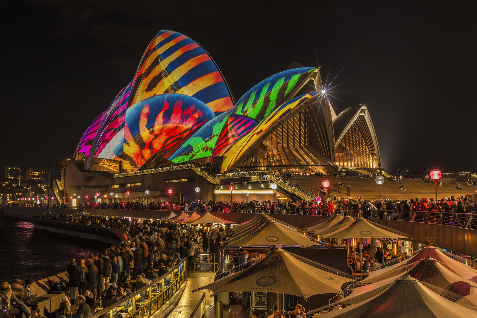
<svg viewBox="0 0 477 318">
<path fill-rule="evenodd" d="M 33 224 L 0 216 L 0 280 L 39 280 L 66 270 L 70 258 L 86 259 L 108 244 L 35 230 Z"/>
</svg>

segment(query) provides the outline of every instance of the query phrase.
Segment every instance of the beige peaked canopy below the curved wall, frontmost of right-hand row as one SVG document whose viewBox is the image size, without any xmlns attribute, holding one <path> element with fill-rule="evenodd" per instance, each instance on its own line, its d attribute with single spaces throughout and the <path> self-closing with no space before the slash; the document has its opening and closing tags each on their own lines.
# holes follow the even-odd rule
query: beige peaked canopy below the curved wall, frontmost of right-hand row
<svg viewBox="0 0 477 318">
<path fill-rule="evenodd" d="M 362 217 L 358 217 L 352 224 L 339 229 L 331 234 L 324 234 L 323 238 L 353 238 L 353 237 L 373 237 L 373 238 L 403 238 L 403 235 L 396 234 L 390 228 L 382 228 L 373 225 Z M 404 236 L 412 237 L 412 236 Z"/>
</svg>

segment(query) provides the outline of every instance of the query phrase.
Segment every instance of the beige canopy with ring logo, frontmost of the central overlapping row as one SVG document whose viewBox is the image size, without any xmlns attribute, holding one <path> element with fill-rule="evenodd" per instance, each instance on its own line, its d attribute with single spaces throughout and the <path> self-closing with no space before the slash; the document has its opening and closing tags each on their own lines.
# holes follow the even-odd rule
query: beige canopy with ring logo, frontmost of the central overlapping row
<svg viewBox="0 0 477 318">
<path fill-rule="evenodd" d="M 228 243 L 229 246 L 254 245 L 291 245 L 313 246 L 321 245 L 317 240 L 291 229 L 274 220 L 268 220 L 256 230 L 251 229 L 247 235 L 236 237 Z"/>
</svg>

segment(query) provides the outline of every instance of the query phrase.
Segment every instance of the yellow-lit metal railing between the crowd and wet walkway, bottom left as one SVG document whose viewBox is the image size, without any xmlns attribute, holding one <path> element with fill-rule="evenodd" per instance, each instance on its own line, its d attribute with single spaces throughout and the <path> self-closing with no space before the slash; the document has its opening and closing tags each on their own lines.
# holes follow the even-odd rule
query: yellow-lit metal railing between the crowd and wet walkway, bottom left
<svg viewBox="0 0 477 318">
<path fill-rule="evenodd" d="M 117 303 L 94 313 L 90 318 L 99 318 L 103 315 L 103 317 L 106 317 L 108 314 L 109 318 L 119 318 L 120 312 L 118 307 L 122 307 L 126 302 L 129 304 L 130 300 L 132 301 L 132 308 L 130 310 L 128 308 L 125 318 L 135 318 L 136 315 L 144 318 L 146 315 L 152 315 L 158 309 L 162 308 L 166 301 L 171 299 L 179 290 L 182 283 L 184 283 L 187 273 L 186 259 L 187 258 L 184 258 L 176 267 L 154 280 L 151 284 L 135 291 L 129 296 L 121 298 Z M 170 284 L 166 286 L 165 278 L 169 275 L 171 275 Z M 136 302 L 136 299 L 140 298 L 141 294 L 144 295 L 144 293 L 147 295 L 147 301 Z"/>
</svg>

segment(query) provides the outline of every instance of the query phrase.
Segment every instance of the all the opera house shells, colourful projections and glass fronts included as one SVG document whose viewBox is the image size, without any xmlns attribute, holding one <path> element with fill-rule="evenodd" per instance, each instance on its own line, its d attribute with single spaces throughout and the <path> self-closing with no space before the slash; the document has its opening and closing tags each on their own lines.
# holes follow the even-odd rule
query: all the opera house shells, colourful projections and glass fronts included
<svg viewBox="0 0 477 318">
<path fill-rule="evenodd" d="M 320 71 L 292 62 L 235 101 L 197 42 L 159 31 L 131 82 L 86 129 L 75 151 L 88 171 L 135 172 L 209 163 L 235 168 L 379 168 L 368 110 L 336 115 Z"/>
</svg>

